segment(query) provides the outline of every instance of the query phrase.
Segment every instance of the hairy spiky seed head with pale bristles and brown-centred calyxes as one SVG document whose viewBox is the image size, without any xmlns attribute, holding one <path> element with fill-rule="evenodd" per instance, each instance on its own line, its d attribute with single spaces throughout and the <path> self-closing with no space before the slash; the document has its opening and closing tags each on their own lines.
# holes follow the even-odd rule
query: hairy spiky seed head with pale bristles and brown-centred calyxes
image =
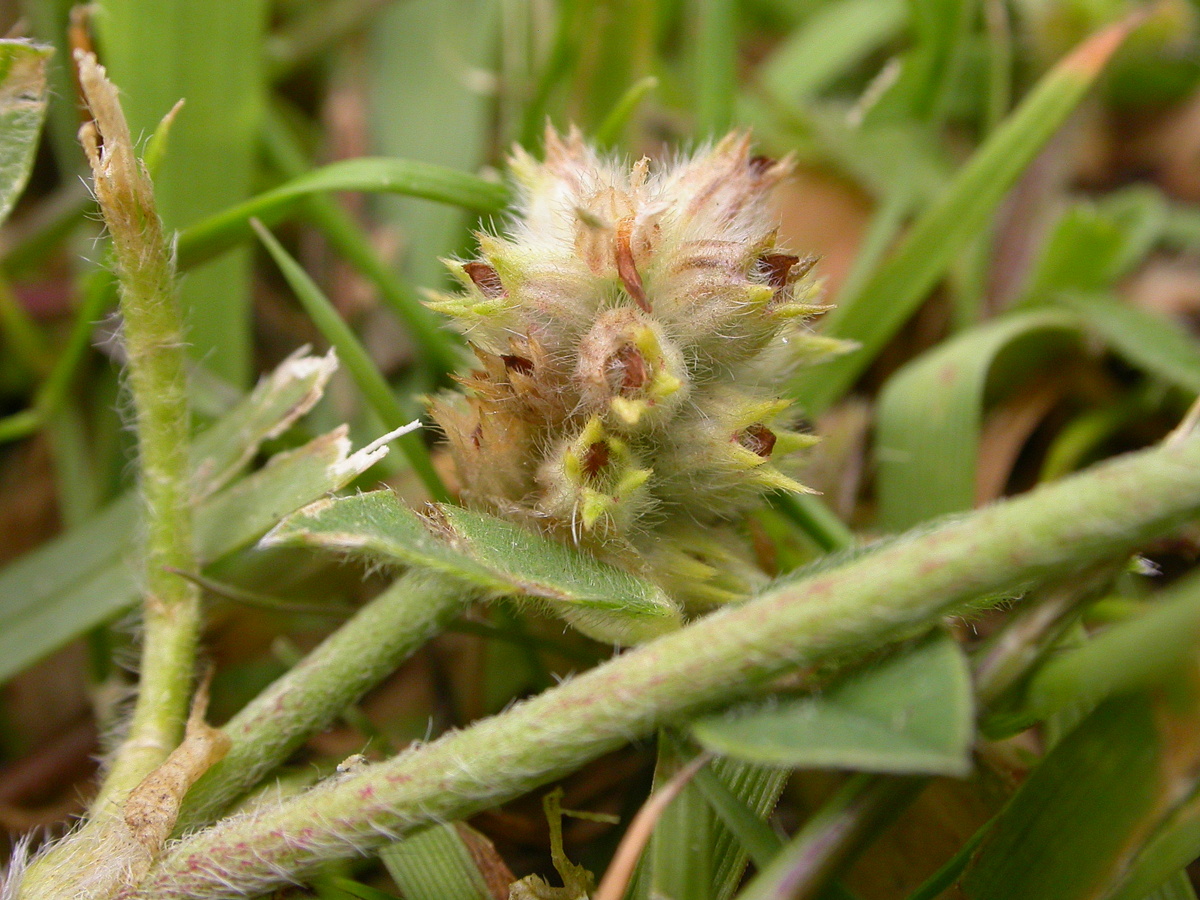
<svg viewBox="0 0 1200 900">
<path fill-rule="evenodd" d="M 479 368 L 436 400 L 467 503 L 600 553 L 700 604 L 744 592 L 726 529 L 781 461 L 779 385 L 836 350 L 811 335 L 811 259 L 776 244 L 768 206 L 787 163 L 731 134 L 677 164 L 632 169 L 572 131 L 546 161 L 516 150 L 503 236 L 449 263 L 451 316 Z"/>
</svg>

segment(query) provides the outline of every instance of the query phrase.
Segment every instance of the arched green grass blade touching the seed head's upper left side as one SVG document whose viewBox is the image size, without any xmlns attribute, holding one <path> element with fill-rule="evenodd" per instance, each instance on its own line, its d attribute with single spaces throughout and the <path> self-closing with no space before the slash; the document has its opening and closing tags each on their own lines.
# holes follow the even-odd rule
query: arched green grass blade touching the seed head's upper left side
<svg viewBox="0 0 1200 900">
<path fill-rule="evenodd" d="M 191 269 L 246 240 L 250 220 L 280 221 L 313 193 L 366 191 L 448 203 L 476 212 L 500 212 L 508 188 L 494 181 L 413 160 L 361 157 L 330 163 L 197 222 L 179 235 L 179 268 Z"/>
</svg>

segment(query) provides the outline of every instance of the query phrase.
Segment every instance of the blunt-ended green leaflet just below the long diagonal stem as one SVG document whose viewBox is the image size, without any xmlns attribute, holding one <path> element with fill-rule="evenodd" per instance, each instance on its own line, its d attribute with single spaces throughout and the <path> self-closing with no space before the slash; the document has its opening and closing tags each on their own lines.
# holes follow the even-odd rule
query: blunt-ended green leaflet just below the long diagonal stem
<svg viewBox="0 0 1200 900">
<path fill-rule="evenodd" d="M 691 725 L 702 746 L 770 766 L 962 775 L 973 708 L 958 643 L 936 634 L 821 692 Z"/>
</svg>

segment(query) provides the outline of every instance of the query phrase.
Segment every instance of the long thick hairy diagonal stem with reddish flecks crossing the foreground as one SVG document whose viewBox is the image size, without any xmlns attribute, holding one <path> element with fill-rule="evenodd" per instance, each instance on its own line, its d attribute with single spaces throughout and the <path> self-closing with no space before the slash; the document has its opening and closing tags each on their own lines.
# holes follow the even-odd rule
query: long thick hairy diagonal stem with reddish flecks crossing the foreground
<svg viewBox="0 0 1200 900">
<path fill-rule="evenodd" d="M 1200 438 L 1169 442 L 779 583 L 500 715 L 178 844 L 130 896 L 258 894 L 518 796 L 796 666 L 1128 552 L 1200 510 Z"/>
</svg>

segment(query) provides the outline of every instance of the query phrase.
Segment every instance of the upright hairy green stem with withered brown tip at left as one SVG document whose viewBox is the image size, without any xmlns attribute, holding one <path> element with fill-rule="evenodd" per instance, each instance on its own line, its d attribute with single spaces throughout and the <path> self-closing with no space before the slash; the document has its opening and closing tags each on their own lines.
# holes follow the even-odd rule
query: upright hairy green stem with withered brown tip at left
<svg viewBox="0 0 1200 900">
<path fill-rule="evenodd" d="M 200 606 L 197 587 L 170 571 L 196 571 L 184 325 L 170 248 L 155 211 L 154 187 L 133 155 L 116 89 L 90 54 L 80 54 L 78 62 L 95 119 L 84 126 L 80 139 L 113 238 L 145 499 L 145 635 L 138 701 L 128 736 L 92 806 L 104 810 L 157 767 L 182 737 Z"/>
</svg>

